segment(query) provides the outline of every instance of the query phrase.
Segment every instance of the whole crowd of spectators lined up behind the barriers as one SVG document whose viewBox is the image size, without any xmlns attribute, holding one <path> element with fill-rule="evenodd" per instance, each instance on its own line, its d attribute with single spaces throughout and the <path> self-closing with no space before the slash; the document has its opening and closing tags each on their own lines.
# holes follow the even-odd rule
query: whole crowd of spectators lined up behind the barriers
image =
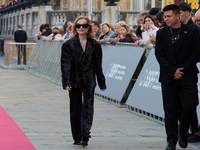
<svg viewBox="0 0 200 150">
<path fill-rule="evenodd" d="M 198 12 L 196 16 L 191 13 L 193 22 L 198 25 Z M 37 39 L 49 41 L 69 40 L 73 23 L 67 21 L 63 28 L 50 28 L 48 24 L 40 26 L 40 34 L 35 35 Z M 95 39 L 104 44 L 110 42 L 112 45 L 120 42 L 134 43 L 135 46 L 154 46 L 156 42 L 156 32 L 165 26 L 164 13 L 157 8 L 152 8 L 149 12 L 141 12 L 137 18 L 137 24 L 130 27 L 125 21 L 119 21 L 116 24 L 103 22 L 99 24 L 92 21 Z"/>
</svg>

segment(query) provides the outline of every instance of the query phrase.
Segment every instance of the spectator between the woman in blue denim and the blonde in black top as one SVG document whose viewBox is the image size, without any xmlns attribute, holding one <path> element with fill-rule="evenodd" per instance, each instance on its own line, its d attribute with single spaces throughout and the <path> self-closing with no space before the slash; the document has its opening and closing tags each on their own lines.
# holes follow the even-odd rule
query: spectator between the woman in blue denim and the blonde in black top
<svg viewBox="0 0 200 150">
<path fill-rule="evenodd" d="M 117 42 L 119 42 L 119 39 L 121 38 L 120 28 L 121 28 L 122 25 L 124 25 L 124 24 L 120 23 L 120 22 L 116 23 L 114 25 L 115 32 L 111 35 L 111 37 L 107 36 L 105 40 L 107 42 L 110 42 L 110 44 L 113 44 L 113 45 L 115 45 Z"/>
</svg>

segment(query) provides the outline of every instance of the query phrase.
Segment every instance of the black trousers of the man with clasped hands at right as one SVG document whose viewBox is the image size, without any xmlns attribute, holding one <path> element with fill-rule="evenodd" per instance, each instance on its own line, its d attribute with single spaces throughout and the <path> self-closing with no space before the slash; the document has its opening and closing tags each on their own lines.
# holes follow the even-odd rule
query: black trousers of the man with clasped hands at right
<svg viewBox="0 0 200 150">
<path fill-rule="evenodd" d="M 183 84 L 179 81 L 173 81 L 170 84 L 162 83 L 161 86 L 167 141 L 176 144 L 178 120 L 180 121 L 179 131 L 186 134 L 194 119 L 198 105 L 197 83 Z"/>
</svg>

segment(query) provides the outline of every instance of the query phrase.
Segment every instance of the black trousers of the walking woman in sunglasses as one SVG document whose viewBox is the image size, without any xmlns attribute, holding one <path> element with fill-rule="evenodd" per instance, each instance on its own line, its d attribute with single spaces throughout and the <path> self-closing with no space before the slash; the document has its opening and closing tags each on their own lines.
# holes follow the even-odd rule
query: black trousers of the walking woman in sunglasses
<svg viewBox="0 0 200 150">
<path fill-rule="evenodd" d="M 82 100 L 83 94 L 83 100 Z M 70 121 L 74 141 L 90 137 L 94 114 L 94 88 L 73 89 L 70 96 Z"/>
</svg>

